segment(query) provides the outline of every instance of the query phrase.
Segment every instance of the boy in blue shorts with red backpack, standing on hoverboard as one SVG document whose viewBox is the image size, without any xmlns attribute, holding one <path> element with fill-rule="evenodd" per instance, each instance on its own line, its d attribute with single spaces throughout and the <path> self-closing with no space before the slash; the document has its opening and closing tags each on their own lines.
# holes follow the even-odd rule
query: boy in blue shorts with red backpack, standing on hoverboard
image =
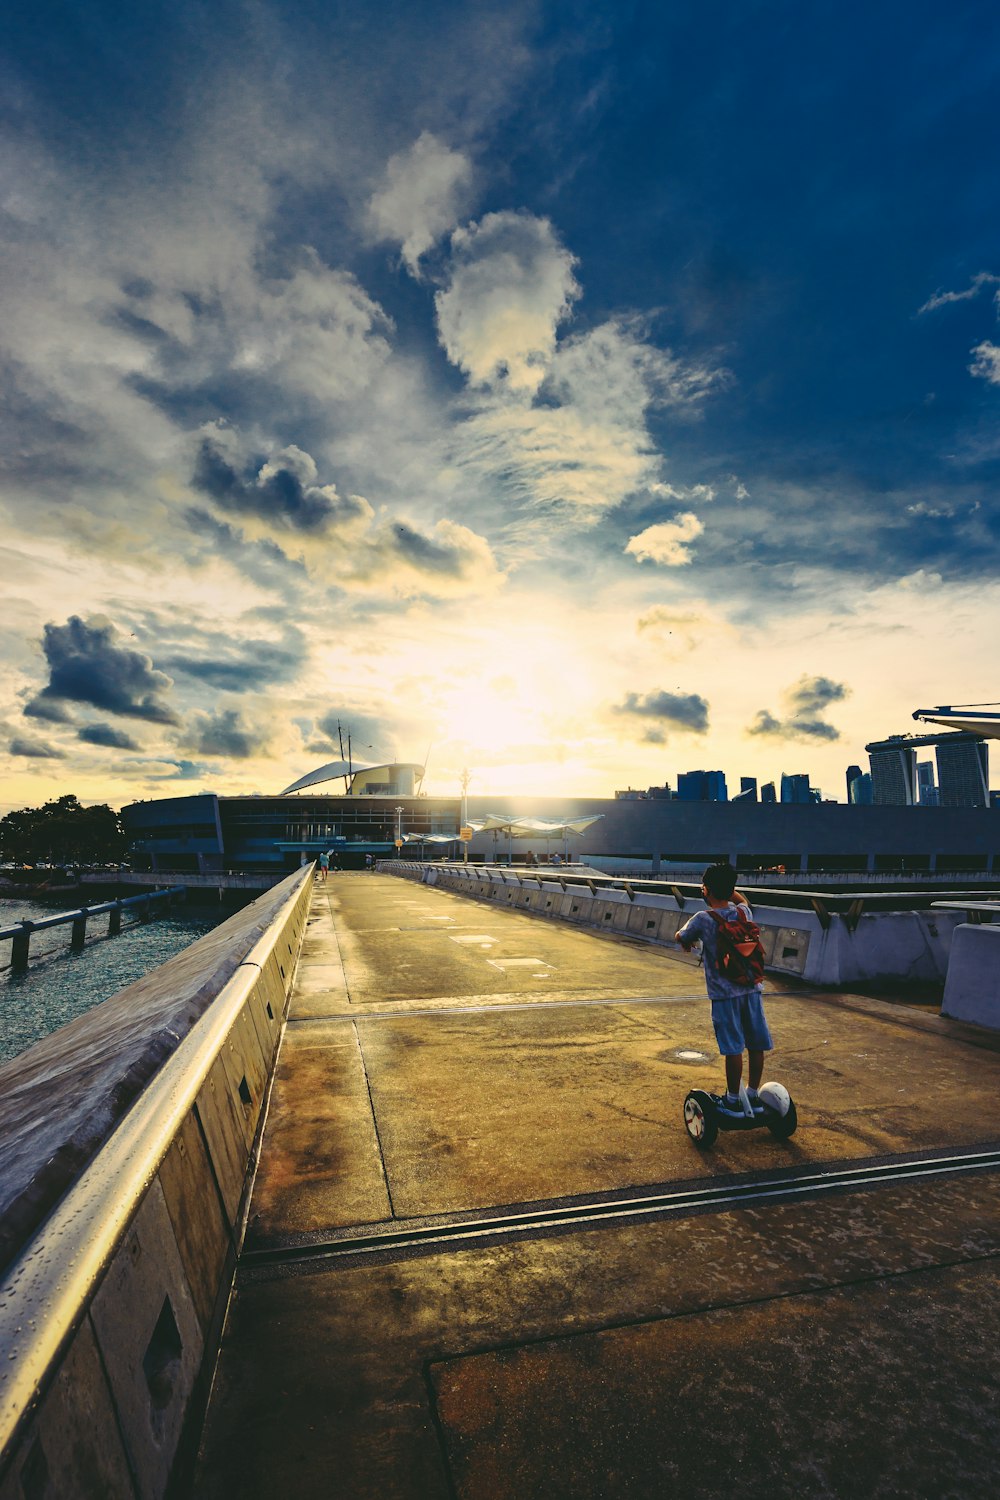
<svg viewBox="0 0 1000 1500">
<path fill-rule="evenodd" d="M 726 1059 L 726 1094 L 717 1106 L 726 1114 L 742 1114 L 739 1084 L 744 1076 L 744 1050 L 750 1059 L 747 1095 L 754 1113 L 763 1112 L 757 1089 L 763 1076 L 765 1053 L 774 1042 L 768 1029 L 762 993 L 763 951 L 753 914 L 736 890 L 736 872 L 729 864 L 714 864 L 705 872 L 702 896 L 708 910 L 696 912 L 678 930 L 678 942 L 690 952 L 702 944 L 705 987 L 712 1002 L 712 1026 L 718 1050 Z"/>
</svg>

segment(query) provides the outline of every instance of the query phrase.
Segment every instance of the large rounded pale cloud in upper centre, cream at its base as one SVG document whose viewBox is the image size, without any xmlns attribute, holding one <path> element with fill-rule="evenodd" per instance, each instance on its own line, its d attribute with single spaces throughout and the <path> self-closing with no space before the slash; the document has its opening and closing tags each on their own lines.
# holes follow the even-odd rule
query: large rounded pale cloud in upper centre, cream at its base
<svg viewBox="0 0 1000 1500">
<path fill-rule="evenodd" d="M 474 386 L 535 392 L 580 296 L 574 264 L 550 222 L 529 213 L 487 213 L 456 230 L 448 285 L 435 297 L 451 363 Z"/>
</svg>

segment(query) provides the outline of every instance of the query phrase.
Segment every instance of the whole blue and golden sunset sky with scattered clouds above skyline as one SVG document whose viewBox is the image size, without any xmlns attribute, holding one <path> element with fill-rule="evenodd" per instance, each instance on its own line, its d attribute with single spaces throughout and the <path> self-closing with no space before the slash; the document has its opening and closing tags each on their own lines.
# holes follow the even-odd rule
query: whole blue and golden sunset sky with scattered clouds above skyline
<svg viewBox="0 0 1000 1500">
<path fill-rule="evenodd" d="M 844 801 L 1000 698 L 999 84 L 970 0 L 10 0 L 0 812 Z"/>
</svg>

